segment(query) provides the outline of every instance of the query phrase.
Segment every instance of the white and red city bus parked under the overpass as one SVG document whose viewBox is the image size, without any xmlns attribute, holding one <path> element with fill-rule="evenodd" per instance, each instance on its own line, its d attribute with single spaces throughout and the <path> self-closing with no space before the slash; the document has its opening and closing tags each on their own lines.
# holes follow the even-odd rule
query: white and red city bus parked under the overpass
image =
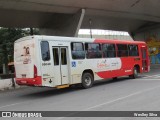
<svg viewBox="0 0 160 120">
<path fill-rule="evenodd" d="M 149 72 L 148 48 L 143 41 L 27 36 L 14 43 L 18 85 L 65 88 L 121 76 L 137 78 Z"/>
</svg>

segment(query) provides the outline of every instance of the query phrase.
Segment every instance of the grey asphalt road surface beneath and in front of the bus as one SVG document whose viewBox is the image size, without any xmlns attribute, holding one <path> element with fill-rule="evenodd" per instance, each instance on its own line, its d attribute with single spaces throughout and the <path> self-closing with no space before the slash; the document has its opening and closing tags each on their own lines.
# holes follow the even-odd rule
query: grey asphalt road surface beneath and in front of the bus
<svg viewBox="0 0 160 120">
<path fill-rule="evenodd" d="M 0 111 L 160 111 L 159 71 L 160 68 L 155 67 L 137 79 L 123 77 L 99 82 L 90 89 L 27 87 L 3 91 L 0 92 Z"/>
</svg>

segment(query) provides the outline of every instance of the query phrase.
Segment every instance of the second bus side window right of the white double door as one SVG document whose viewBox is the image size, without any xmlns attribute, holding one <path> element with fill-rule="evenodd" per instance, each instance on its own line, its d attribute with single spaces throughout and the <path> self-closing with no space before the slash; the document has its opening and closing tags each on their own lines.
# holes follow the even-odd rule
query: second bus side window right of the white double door
<svg viewBox="0 0 160 120">
<path fill-rule="evenodd" d="M 101 44 L 85 43 L 87 58 L 102 58 Z"/>
</svg>

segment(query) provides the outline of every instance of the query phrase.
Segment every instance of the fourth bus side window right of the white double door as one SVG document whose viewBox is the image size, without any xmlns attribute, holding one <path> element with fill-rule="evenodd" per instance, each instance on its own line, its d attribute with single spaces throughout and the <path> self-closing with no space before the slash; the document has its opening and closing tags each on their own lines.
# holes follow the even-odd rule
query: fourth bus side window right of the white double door
<svg viewBox="0 0 160 120">
<path fill-rule="evenodd" d="M 128 46 L 126 44 L 117 44 L 118 57 L 128 57 Z"/>
</svg>

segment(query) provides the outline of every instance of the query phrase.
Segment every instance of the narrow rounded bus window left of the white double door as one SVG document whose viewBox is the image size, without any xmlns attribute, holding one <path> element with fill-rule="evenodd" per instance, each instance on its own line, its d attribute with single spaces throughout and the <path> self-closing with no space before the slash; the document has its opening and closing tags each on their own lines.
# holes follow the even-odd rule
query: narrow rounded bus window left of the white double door
<svg viewBox="0 0 160 120">
<path fill-rule="evenodd" d="M 49 43 L 47 41 L 41 41 L 41 55 L 43 61 L 50 60 Z"/>
</svg>

